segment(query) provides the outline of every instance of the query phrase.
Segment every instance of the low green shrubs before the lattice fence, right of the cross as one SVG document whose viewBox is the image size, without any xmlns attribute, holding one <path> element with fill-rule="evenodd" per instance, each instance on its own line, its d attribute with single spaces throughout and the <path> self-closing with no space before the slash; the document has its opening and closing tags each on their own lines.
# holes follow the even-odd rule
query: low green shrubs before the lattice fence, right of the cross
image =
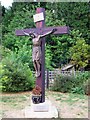
<svg viewBox="0 0 90 120">
<path fill-rule="evenodd" d="M 90 73 L 87 71 L 79 72 L 75 76 L 58 75 L 54 81 L 52 90 L 85 94 L 88 80 L 90 80 Z"/>
</svg>

